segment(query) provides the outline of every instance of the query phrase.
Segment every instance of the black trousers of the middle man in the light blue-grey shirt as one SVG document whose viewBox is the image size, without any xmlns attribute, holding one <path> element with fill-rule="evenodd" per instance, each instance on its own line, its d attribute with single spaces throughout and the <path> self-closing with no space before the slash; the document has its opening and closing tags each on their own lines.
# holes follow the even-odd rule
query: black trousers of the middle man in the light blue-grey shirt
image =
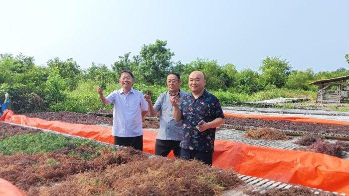
<svg viewBox="0 0 349 196">
<path fill-rule="evenodd" d="M 167 157 L 170 152 L 174 151 L 174 157 L 180 157 L 180 141 L 175 140 L 159 140 L 155 141 L 155 154 Z"/>
</svg>

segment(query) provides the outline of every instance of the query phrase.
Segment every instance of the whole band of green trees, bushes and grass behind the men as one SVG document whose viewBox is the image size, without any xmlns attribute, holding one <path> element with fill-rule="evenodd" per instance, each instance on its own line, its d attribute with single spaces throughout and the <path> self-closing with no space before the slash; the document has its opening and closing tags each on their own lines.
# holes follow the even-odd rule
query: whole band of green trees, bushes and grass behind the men
<svg viewBox="0 0 349 196">
<path fill-rule="evenodd" d="M 260 65 L 259 74 L 249 68 L 237 71 L 233 64 L 219 65 L 216 60 L 197 58 L 186 64 L 173 62 L 172 52 L 167 41 L 156 40 L 155 43 L 143 45 L 138 55 L 132 57 L 130 52 L 119 56 L 111 65 L 92 63 L 81 70 L 73 59 L 66 61 L 58 57 L 47 62 L 47 68 L 36 66 L 33 57 L 22 54 L 0 54 L 0 102 L 3 95 L 9 93 L 10 108 L 15 113 L 38 111 L 87 111 L 111 109 L 113 105 L 102 105 L 96 88 L 106 87 L 108 95 L 118 84 L 119 74 L 128 69 L 135 76 L 134 88 L 146 93 L 153 92 L 153 103 L 160 93 L 167 91 L 166 76 L 170 71 L 180 74 L 180 89 L 190 92 L 188 75 L 199 70 L 205 74 L 206 89 L 217 94 L 223 104 L 234 104 L 236 101 L 262 100 L 266 98 L 292 97 L 299 95 L 313 96 L 317 86 L 310 82 L 349 75 L 349 70 L 339 68 L 335 71 L 314 73 L 291 71 L 289 62 L 278 57 L 269 56 Z M 349 63 L 349 54 L 345 55 Z M 288 91 L 287 89 L 292 89 Z M 224 92 L 226 94 L 224 94 Z M 289 94 L 288 94 L 289 93 Z"/>
</svg>

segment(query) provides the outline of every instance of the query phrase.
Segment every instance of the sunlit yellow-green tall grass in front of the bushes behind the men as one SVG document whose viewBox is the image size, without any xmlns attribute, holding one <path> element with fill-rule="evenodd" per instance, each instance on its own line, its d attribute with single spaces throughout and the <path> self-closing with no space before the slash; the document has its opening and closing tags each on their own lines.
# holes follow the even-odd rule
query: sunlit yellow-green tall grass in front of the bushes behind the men
<svg viewBox="0 0 349 196">
<path fill-rule="evenodd" d="M 104 96 L 109 95 L 112 91 L 120 89 L 121 86 L 115 83 L 108 83 L 107 88 L 104 90 Z M 152 85 L 147 86 L 145 84 L 134 84 L 136 90 L 146 93 L 151 90 L 153 93 L 152 101 L 156 101 L 157 97 L 167 91 L 167 87 Z M 189 92 L 189 88 L 184 87 L 181 90 Z M 311 101 L 316 100 L 316 92 L 304 91 L 304 90 L 289 90 L 289 89 L 270 89 L 261 91 L 254 94 L 244 94 L 237 92 L 229 92 L 223 90 L 211 91 L 210 93 L 215 95 L 220 101 L 221 105 L 236 104 L 237 101 L 260 101 L 265 99 L 274 99 L 279 97 L 308 97 Z M 89 111 L 95 111 L 98 109 L 111 110 L 112 104 L 103 105 L 99 99 L 97 93 L 97 82 L 94 81 L 82 81 L 74 91 L 65 92 L 66 97 L 63 102 L 50 105 L 50 111 L 71 111 L 78 113 L 86 113 Z"/>
</svg>

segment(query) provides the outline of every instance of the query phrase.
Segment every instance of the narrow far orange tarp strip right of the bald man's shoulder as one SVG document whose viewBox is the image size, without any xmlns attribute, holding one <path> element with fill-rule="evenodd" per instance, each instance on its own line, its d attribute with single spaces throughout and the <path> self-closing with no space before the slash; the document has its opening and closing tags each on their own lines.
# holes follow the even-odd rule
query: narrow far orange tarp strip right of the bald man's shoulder
<svg viewBox="0 0 349 196">
<path fill-rule="evenodd" d="M 321 123 L 329 125 L 349 125 L 348 121 L 337 121 L 321 118 L 308 118 L 308 117 L 297 117 L 297 116 L 267 116 L 267 115 L 257 115 L 257 114 L 232 114 L 224 113 L 224 116 L 230 118 L 261 118 L 265 120 L 282 120 L 282 121 L 293 121 L 300 123 Z"/>
</svg>

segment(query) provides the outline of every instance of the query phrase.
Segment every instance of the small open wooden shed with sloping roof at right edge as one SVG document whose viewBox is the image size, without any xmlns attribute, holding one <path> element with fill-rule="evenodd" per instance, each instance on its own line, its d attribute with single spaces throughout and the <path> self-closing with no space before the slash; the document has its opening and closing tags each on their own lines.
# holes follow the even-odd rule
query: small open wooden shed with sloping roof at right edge
<svg viewBox="0 0 349 196">
<path fill-rule="evenodd" d="M 310 84 L 318 85 L 318 103 L 349 103 L 349 75 L 317 80 Z"/>
</svg>

